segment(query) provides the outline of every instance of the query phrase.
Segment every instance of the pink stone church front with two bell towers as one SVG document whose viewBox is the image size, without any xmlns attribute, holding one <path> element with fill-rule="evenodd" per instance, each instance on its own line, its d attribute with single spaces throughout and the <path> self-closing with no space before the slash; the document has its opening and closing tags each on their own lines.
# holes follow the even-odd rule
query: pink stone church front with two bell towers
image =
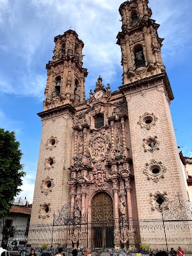
<svg viewBox="0 0 192 256">
<path fill-rule="evenodd" d="M 83 42 L 72 30 L 54 38 L 38 113 L 42 139 L 29 244 L 134 247 L 134 228 L 126 221 L 161 218 L 176 193 L 188 198 L 159 24 L 151 19 L 148 0 L 125 1 L 119 12 L 123 85 L 115 92 L 99 76 L 85 99 Z M 63 235 L 54 234 L 52 223 L 67 227 Z M 49 232 L 42 238 L 36 227 Z"/>
</svg>

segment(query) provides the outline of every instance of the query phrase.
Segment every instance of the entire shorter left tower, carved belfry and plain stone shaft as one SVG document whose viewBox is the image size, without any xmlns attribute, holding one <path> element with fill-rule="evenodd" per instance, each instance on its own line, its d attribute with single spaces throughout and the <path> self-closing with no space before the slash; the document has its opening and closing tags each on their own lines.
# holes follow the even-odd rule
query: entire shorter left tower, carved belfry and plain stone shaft
<svg viewBox="0 0 192 256">
<path fill-rule="evenodd" d="M 72 161 L 72 126 L 77 104 L 84 101 L 83 42 L 72 30 L 54 38 L 52 61 L 46 65 L 47 84 L 42 120 L 42 138 L 36 172 L 31 227 L 47 225 L 54 212 L 68 200 L 68 168 Z M 33 232 L 29 243 L 38 244 Z M 51 243 L 51 238 L 47 238 Z"/>
</svg>

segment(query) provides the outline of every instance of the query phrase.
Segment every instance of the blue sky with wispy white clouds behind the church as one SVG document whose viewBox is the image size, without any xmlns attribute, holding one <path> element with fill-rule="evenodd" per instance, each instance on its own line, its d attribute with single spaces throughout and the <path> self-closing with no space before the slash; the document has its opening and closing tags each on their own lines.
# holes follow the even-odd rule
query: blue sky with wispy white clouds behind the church
<svg viewBox="0 0 192 256">
<path fill-rule="evenodd" d="M 54 36 L 72 27 L 84 42 L 84 68 L 88 68 L 86 95 L 102 76 L 116 90 L 122 83 L 120 0 L 0 0 L 0 126 L 15 131 L 24 154 L 27 175 L 22 193 L 33 200 L 47 79 L 45 64 L 52 60 Z M 163 61 L 175 100 L 171 111 L 177 144 L 192 155 L 191 58 L 192 1 L 149 0 L 152 19 L 161 24 L 165 38 Z"/>
</svg>

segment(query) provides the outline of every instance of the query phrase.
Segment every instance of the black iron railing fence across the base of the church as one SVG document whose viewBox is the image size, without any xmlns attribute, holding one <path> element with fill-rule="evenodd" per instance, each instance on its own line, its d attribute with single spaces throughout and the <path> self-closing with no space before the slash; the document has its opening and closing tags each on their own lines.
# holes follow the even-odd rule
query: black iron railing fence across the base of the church
<svg viewBox="0 0 192 256">
<path fill-rule="evenodd" d="M 141 244 L 151 250 L 159 251 L 182 246 L 186 253 L 192 253 L 192 220 L 124 220 L 113 223 L 83 223 L 75 225 L 50 225 L 31 227 L 33 243 L 52 246 L 77 246 L 92 248 L 114 248 L 120 241 L 121 248 L 136 250 Z M 37 234 L 40 234 L 37 235 Z"/>
</svg>

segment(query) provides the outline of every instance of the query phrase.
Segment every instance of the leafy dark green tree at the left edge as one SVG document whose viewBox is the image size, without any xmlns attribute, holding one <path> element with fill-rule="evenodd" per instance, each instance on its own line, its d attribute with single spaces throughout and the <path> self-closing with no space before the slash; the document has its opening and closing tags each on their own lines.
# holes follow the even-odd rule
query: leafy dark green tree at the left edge
<svg viewBox="0 0 192 256">
<path fill-rule="evenodd" d="M 14 131 L 0 128 L 0 218 L 10 212 L 14 197 L 21 191 L 22 177 L 26 175 L 20 164 L 19 146 Z"/>
</svg>

